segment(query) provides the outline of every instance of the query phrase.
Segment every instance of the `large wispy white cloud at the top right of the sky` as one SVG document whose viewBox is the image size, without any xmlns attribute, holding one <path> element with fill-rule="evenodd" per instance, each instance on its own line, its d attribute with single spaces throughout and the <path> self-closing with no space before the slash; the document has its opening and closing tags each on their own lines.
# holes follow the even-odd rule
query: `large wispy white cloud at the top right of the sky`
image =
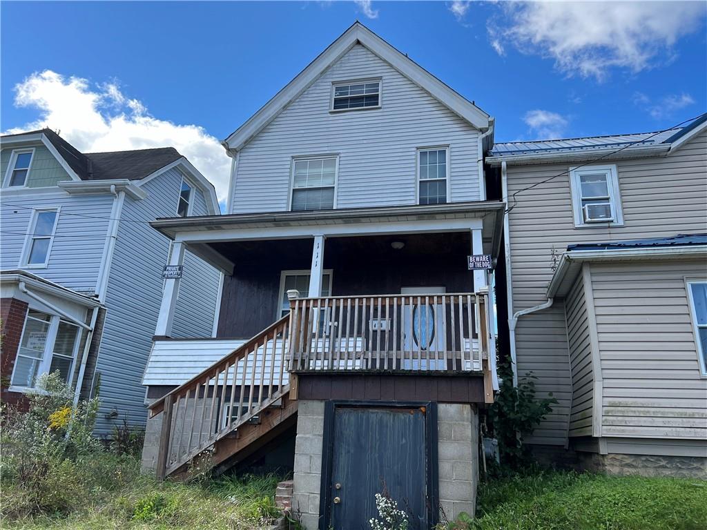
<svg viewBox="0 0 707 530">
<path fill-rule="evenodd" d="M 703 25 L 701 1 L 507 2 L 489 23 L 489 40 L 554 59 L 561 71 L 602 81 L 609 69 L 632 72 L 674 58 L 680 37 Z"/>
</svg>

